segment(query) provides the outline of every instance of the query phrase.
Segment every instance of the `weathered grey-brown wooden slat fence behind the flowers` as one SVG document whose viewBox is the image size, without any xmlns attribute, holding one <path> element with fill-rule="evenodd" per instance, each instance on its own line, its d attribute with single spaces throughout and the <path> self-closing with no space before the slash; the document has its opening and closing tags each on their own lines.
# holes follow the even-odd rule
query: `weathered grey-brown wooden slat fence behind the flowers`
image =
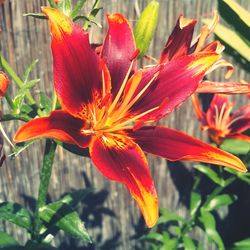
<svg viewBox="0 0 250 250">
<path fill-rule="evenodd" d="M 93 1 L 89 2 L 90 7 Z M 104 11 L 97 18 L 97 21 L 103 25 L 103 30 L 94 27 L 91 30 L 91 40 L 97 43 L 102 42 L 106 30 L 106 12 L 122 12 L 132 24 L 135 24 L 137 20 L 135 6 L 142 10 L 148 2 L 149 0 L 103 1 Z M 240 2 L 243 6 L 250 8 L 248 0 Z M 160 21 L 149 53 L 155 57 L 159 55 L 180 13 L 190 18 L 200 19 L 210 15 L 216 8 L 216 3 L 215 0 L 161 0 Z M 0 27 L 3 30 L 0 50 L 10 65 L 21 76 L 26 65 L 36 58 L 39 59 L 39 63 L 32 73 L 34 78 L 41 78 L 39 87 L 34 88 L 33 93 L 36 98 L 39 89 L 51 94 L 53 86 L 49 28 L 46 21 L 23 17 L 23 14 L 38 12 L 41 5 L 46 5 L 46 1 L 6 0 L 0 8 Z M 201 27 L 201 23 L 198 27 Z M 230 60 L 232 59 L 230 58 Z M 212 77 L 222 80 L 223 73 L 213 74 Z M 250 75 L 236 66 L 232 80 L 237 79 L 249 81 Z M 12 93 L 15 93 L 14 84 L 11 84 L 10 89 Z M 165 118 L 161 124 L 206 140 L 206 135 L 200 132 L 190 101 Z M 14 135 L 19 125 L 18 123 L 8 123 L 5 126 L 9 137 Z M 16 159 L 8 158 L 5 166 L 0 169 L 0 201 L 12 200 L 33 207 L 33 197 L 36 197 L 38 192 L 43 148 L 43 142 L 38 141 Z M 10 152 L 7 145 L 5 145 L 5 150 L 6 153 Z M 191 187 L 191 177 L 187 168 L 181 166 L 180 163 L 171 163 L 170 166 L 167 166 L 165 160 L 154 157 L 149 157 L 149 164 L 156 182 L 160 206 L 187 216 L 187 208 L 184 204 Z M 88 185 L 96 188 L 96 194 L 88 199 L 88 204 L 82 204 L 79 211 L 83 218 L 87 218 L 87 228 L 96 242 L 96 249 L 100 249 L 101 244 L 109 240 L 113 243 L 116 241 L 120 243 L 119 247 L 115 249 L 135 249 L 137 243 L 134 236 L 145 228 L 138 208 L 128 192 L 120 184 L 107 181 L 89 159 L 78 157 L 58 148 L 49 190 L 51 199 L 55 200 L 64 192 Z M 91 221 L 95 221 L 95 224 Z M 23 232 L 12 225 L 2 223 L 0 230 L 1 228 L 18 237 L 20 242 L 26 240 Z M 200 232 L 196 232 L 196 235 L 200 241 L 206 244 L 204 235 Z M 73 249 L 72 247 L 76 246 L 74 241 L 69 242 L 65 238 L 55 241 L 56 245 L 63 244 L 63 242 L 65 244 L 61 249 Z"/>
</svg>

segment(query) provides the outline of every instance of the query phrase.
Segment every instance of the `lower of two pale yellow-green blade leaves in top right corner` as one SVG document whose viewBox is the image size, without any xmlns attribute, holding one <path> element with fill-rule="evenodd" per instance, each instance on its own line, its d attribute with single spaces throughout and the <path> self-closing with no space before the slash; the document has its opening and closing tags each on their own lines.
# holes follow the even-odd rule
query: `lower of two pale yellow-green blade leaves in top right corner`
<svg viewBox="0 0 250 250">
<path fill-rule="evenodd" d="M 211 19 L 202 19 L 206 25 L 209 25 L 211 21 Z M 250 61 L 250 47 L 235 31 L 222 24 L 217 24 L 214 33 L 248 62 Z"/>
</svg>

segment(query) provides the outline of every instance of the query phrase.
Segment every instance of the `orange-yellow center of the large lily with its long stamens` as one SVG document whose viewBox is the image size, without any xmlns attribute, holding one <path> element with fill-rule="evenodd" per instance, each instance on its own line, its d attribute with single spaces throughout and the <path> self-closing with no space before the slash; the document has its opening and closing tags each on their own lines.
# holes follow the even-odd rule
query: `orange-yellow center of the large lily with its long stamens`
<svg viewBox="0 0 250 250">
<path fill-rule="evenodd" d="M 109 72 L 107 68 L 103 66 L 102 92 L 99 93 L 96 91 L 93 93 L 93 101 L 87 106 L 87 120 L 90 129 L 83 130 L 83 133 L 103 134 L 105 132 L 112 133 L 124 129 L 131 129 L 134 128 L 137 123 L 141 123 L 143 116 L 160 108 L 156 106 L 142 113 L 130 111 L 131 107 L 146 92 L 159 74 L 159 71 L 157 71 L 141 90 L 137 91 L 142 80 L 143 72 L 139 70 L 130 77 L 133 64 L 134 59 L 131 61 L 130 67 L 115 98 L 112 98 L 111 94 Z"/>
</svg>

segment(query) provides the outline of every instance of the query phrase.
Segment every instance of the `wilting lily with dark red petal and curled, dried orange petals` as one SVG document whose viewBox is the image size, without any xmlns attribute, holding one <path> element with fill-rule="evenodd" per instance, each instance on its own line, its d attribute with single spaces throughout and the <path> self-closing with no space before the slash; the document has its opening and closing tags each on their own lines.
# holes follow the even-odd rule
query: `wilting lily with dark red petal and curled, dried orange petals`
<svg viewBox="0 0 250 250">
<path fill-rule="evenodd" d="M 163 51 L 161 52 L 159 63 L 169 62 L 185 55 L 200 52 L 214 52 L 221 54 L 225 47 L 219 41 L 213 41 L 204 45 L 206 39 L 212 34 L 218 22 L 219 16 L 217 12 L 215 12 L 212 23 L 209 26 L 203 26 L 200 34 L 192 40 L 196 20 L 187 19 L 181 15 Z M 233 72 L 233 65 L 224 59 L 217 60 L 206 74 L 219 67 L 227 67 L 225 78 L 228 79 Z M 196 92 L 224 94 L 250 93 L 250 84 L 247 84 L 246 82 L 201 81 Z"/>
</svg>

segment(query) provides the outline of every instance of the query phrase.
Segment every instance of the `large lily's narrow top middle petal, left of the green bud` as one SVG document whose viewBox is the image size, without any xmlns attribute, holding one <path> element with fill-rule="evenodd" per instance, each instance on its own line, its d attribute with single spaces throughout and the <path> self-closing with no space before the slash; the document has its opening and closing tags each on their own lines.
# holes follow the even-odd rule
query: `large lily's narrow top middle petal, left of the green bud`
<svg viewBox="0 0 250 250">
<path fill-rule="evenodd" d="M 107 15 L 109 29 L 104 40 L 101 56 L 105 59 L 112 80 L 115 97 L 131 65 L 135 52 L 135 40 L 128 20 L 121 14 Z M 132 71 L 135 69 L 133 66 Z"/>
</svg>

